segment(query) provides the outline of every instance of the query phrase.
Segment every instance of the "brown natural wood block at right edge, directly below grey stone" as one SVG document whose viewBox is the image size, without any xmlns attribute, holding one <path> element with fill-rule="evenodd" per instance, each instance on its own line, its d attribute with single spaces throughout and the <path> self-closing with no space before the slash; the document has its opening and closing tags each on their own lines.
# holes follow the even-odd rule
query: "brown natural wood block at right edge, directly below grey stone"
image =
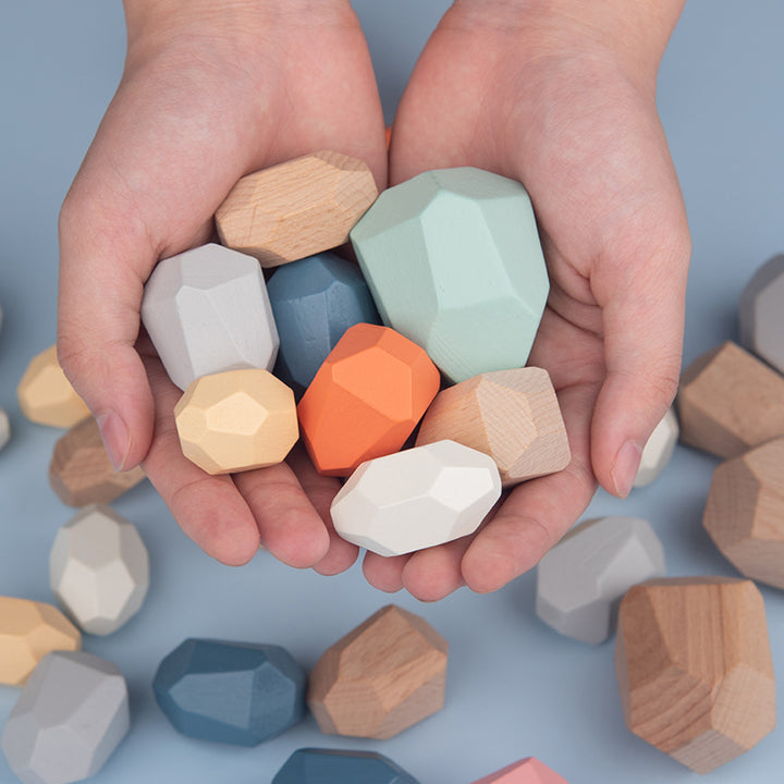
<svg viewBox="0 0 784 784">
<path fill-rule="evenodd" d="M 684 370 L 677 405 L 681 440 L 720 457 L 784 436 L 784 378 L 735 343 Z"/>
</svg>

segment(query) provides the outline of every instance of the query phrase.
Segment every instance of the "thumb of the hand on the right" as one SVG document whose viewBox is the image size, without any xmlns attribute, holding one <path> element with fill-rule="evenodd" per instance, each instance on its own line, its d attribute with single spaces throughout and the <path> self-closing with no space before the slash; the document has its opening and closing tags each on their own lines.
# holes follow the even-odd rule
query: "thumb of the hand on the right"
<svg viewBox="0 0 784 784">
<path fill-rule="evenodd" d="M 602 487 L 626 498 L 650 433 L 677 391 L 683 350 L 688 230 L 644 262 L 599 265 L 607 378 L 591 420 L 591 463 Z"/>
</svg>

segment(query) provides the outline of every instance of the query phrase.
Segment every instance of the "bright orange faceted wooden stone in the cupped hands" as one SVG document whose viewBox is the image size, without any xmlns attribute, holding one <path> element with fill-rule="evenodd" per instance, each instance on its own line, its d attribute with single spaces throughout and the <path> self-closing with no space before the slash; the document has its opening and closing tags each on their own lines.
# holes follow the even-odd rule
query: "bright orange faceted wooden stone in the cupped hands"
<svg viewBox="0 0 784 784">
<path fill-rule="evenodd" d="M 297 408 L 314 465 L 348 476 L 360 463 L 396 452 L 439 384 L 438 369 L 418 345 L 387 327 L 352 327 Z"/>
</svg>

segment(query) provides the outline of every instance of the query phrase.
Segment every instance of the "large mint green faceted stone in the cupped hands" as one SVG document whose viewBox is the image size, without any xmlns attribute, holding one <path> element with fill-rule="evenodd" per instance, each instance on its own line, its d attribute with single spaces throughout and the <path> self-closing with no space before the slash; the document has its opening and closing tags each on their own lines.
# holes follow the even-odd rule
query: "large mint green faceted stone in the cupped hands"
<svg viewBox="0 0 784 784">
<path fill-rule="evenodd" d="M 550 284 L 520 183 L 425 172 L 384 191 L 351 238 L 384 323 L 450 380 L 526 364 Z"/>
</svg>

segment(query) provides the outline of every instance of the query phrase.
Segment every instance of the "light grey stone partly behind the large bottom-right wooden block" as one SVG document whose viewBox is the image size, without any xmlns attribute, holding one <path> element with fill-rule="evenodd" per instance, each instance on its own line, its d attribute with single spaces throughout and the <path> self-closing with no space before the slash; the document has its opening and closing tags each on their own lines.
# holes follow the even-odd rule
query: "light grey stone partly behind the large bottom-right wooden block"
<svg viewBox="0 0 784 784">
<path fill-rule="evenodd" d="M 647 520 L 586 520 L 539 562 L 537 615 L 566 637 L 598 645 L 614 632 L 626 591 L 664 571 L 664 549 Z"/>
</svg>

